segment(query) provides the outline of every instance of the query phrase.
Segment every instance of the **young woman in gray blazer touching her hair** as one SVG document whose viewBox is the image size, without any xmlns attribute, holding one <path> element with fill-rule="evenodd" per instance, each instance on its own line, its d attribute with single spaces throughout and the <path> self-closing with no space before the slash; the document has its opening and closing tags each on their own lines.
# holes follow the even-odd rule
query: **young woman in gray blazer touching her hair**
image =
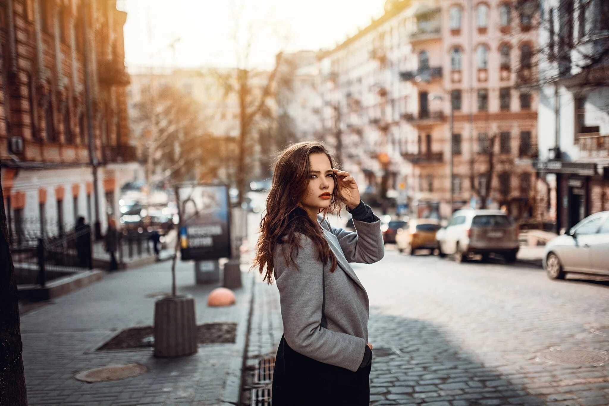
<svg viewBox="0 0 609 406">
<path fill-rule="evenodd" d="M 349 262 L 382 259 L 381 223 L 335 166 L 319 142 L 293 144 L 275 164 L 253 265 L 281 296 L 274 406 L 370 401 L 368 295 Z M 326 220 L 343 205 L 357 233 Z"/>
</svg>

